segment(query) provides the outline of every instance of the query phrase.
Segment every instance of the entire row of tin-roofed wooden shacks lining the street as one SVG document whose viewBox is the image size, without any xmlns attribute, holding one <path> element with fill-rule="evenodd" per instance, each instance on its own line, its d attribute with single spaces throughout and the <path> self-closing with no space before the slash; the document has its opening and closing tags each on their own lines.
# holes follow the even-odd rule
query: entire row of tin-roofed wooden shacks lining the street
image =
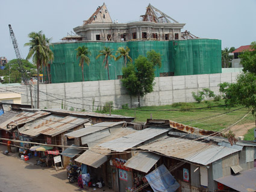
<svg viewBox="0 0 256 192">
<path fill-rule="evenodd" d="M 47 151 L 64 167 L 74 160 L 114 191 L 256 190 L 256 144 L 230 143 L 218 132 L 65 110 L 12 108 L 0 118 L 1 138 L 53 146 Z"/>
</svg>

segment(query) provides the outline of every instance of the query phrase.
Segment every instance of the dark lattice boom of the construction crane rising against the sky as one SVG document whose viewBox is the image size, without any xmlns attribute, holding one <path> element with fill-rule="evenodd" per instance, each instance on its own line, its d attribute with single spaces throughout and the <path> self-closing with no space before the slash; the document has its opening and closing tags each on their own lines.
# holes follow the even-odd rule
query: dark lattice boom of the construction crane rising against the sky
<svg viewBox="0 0 256 192">
<path fill-rule="evenodd" d="M 22 57 L 20 56 L 20 51 L 19 51 L 19 46 L 17 44 L 17 40 L 14 36 L 13 33 L 13 29 L 11 28 L 11 25 L 9 24 L 9 29 L 10 29 L 10 36 L 11 36 L 11 41 L 13 42 L 13 48 L 16 54 L 16 58 L 17 58 L 17 62 L 19 64 L 19 72 L 21 73 L 22 76 L 22 80 L 25 84 L 27 84 L 28 79 L 25 78 L 24 74 L 25 74 L 25 69 L 23 68 L 23 64 L 22 64 Z"/>
</svg>

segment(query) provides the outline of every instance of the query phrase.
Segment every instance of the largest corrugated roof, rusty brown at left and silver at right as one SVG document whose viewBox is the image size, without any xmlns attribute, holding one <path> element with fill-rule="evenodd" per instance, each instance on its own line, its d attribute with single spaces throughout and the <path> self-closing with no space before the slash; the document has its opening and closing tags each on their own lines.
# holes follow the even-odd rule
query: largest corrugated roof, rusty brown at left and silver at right
<svg viewBox="0 0 256 192">
<path fill-rule="evenodd" d="M 140 148 L 155 151 L 166 156 L 185 159 L 186 161 L 205 166 L 217 161 L 217 159 L 240 151 L 238 149 L 216 146 L 211 143 L 203 143 L 201 141 L 175 137 L 167 137 L 165 139 L 140 146 Z"/>
</svg>

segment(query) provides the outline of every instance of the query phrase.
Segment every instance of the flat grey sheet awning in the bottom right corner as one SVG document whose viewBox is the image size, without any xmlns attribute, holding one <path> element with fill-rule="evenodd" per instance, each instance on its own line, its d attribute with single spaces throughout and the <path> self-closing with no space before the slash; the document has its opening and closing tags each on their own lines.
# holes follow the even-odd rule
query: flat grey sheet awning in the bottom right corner
<svg viewBox="0 0 256 192">
<path fill-rule="evenodd" d="M 238 175 L 229 175 L 223 178 L 215 179 L 223 185 L 233 188 L 237 191 L 248 192 L 256 191 L 255 185 L 256 167 L 241 172 Z"/>
</svg>

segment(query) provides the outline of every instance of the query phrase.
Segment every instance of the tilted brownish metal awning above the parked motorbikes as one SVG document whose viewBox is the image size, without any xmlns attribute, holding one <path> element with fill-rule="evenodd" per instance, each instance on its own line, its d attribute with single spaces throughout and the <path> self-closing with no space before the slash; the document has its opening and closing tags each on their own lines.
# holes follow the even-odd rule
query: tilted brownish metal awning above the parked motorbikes
<svg viewBox="0 0 256 192">
<path fill-rule="evenodd" d="M 107 155 L 102 155 L 100 153 L 93 152 L 92 150 L 86 150 L 86 152 L 76 158 L 75 161 L 86 164 L 87 166 L 98 168 L 104 164 L 107 159 Z"/>
</svg>

